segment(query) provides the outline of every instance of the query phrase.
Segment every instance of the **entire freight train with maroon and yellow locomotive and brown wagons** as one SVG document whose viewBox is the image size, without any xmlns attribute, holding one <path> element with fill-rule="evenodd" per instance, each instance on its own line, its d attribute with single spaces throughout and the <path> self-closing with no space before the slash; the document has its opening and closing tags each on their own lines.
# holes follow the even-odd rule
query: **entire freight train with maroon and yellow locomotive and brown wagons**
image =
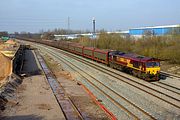
<svg viewBox="0 0 180 120">
<path fill-rule="evenodd" d="M 125 71 L 126 73 L 146 81 L 159 80 L 160 78 L 160 60 L 156 58 L 145 57 L 134 53 L 125 53 L 117 50 L 103 50 L 94 47 L 85 47 L 78 43 L 67 41 L 25 40 L 66 50 L 106 64 L 112 68 Z"/>
</svg>

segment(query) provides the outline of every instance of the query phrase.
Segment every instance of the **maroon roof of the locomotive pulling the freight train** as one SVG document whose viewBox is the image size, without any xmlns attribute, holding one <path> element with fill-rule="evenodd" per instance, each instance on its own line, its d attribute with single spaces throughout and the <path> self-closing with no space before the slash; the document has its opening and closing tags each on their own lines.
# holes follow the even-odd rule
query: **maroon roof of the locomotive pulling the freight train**
<svg viewBox="0 0 180 120">
<path fill-rule="evenodd" d="M 135 61 L 142 61 L 142 62 L 158 60 L 153 57 L 145 57 L 145 56 L 141 56 L 141 55 L 138 55 L 135 53 L 124 53 L 121 51 L 113 51 L 113 52 L 110 52 L 110 54 L 115 55 L 115 56 L 122 56 L 122 57 L 129 58 L 129 59 L 135 60 Z"/>
</svg>

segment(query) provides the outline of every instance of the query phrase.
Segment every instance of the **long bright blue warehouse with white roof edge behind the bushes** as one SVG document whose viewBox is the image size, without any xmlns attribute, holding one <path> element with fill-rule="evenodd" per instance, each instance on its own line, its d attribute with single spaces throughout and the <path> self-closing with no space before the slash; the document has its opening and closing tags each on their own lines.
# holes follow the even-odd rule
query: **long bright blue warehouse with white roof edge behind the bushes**
<svg viewBox="0 0 180 120">
<path fill-rule="evenodd" d="M 180 34 L 180 25 L 166 25 L 129 29 L 129 35 L 134 37 L 142 37 L 143 35 L 162 36 L 169 34 Z"/>
</svg>

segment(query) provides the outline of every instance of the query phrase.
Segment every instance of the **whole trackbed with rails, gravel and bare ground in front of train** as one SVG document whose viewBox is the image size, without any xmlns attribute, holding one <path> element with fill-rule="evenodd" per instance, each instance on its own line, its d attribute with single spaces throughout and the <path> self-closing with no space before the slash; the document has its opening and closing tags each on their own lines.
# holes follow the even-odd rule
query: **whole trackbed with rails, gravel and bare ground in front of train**
<svg viewBox="0 0 180 120">
<path fill-rule="evenodd" d="M 68 51 L 16 42 L 24 57 L 12 75 L 22 82 L 3 96 L 4 120 L 180 119 L 178 75 L 147 82 Z"/>
</svg>

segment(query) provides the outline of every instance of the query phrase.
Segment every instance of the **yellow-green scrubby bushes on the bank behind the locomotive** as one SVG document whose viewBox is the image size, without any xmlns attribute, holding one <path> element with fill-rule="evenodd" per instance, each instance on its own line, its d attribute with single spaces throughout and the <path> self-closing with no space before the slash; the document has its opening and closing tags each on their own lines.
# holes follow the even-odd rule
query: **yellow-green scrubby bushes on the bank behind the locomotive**
<svg viewBox="0 0 180 120">
<path fill-rule="evenodd" d="M 155 57 L 173 64 L 180 64 L 180 35 L 143 37 L 138 40 L 123 38 L 117 34 L 101 33 L 96 40 L 76 40 L 84 46 L 120 50 Z"/>
</svg>

